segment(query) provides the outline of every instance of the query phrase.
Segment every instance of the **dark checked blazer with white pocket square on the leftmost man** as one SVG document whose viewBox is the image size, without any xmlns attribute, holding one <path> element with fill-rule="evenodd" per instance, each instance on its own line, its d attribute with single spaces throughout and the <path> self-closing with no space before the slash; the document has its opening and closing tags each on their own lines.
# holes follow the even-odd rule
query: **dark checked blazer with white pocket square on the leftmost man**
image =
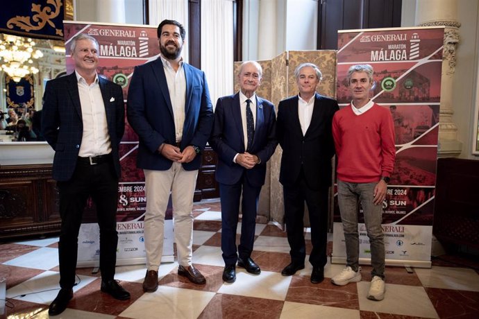
<svg viewBox="0 0 479 319">
<path fill-rule="evenodd" d="M 112 157 L 118 178 L 121 176 L 118 146 L 125 129 L 125 105 L 121 87 L 99 77 Z M 76 74 L 49 80 L 43 95 L 42 132 L 55 150 L 53 179 L 72 178 L 83 137 L 83 119 Z"/>
</svg>

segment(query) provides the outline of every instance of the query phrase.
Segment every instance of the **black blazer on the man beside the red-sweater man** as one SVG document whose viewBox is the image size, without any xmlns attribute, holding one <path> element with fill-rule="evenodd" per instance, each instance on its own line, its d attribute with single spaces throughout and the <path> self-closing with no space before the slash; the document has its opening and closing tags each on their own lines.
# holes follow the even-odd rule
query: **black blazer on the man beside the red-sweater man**
<svg viewBox="0 0 479 319">
<path fill-rule="evenodd" d="M 276 137 L 281 157 L 280 183 L 292 186 L 303 166 L 308 187 L 318 190 L 331 185 L 331 158 L 335 155 L 332 123 L 339 110 L 332 98 L 316 93 L 311 123 L 303 136 L 298 114 L 298 96 L 280 101 Z"/>
</svg>

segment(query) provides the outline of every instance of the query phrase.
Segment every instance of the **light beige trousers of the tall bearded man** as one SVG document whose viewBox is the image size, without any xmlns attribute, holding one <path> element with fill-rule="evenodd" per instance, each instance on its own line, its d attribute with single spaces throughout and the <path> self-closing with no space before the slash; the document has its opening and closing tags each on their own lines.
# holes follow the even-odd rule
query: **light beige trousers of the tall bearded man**
<svg viewBox="0 0 479 319">
<path fill-rule="evenodd" d="M 198 170 L 185 171 L 178 162 L 174 162 L 167 171 L 144 170 L 146 182 L 144 247 L 148 270 L 158 271 L 160 267 L 163 255 L 165 212 L 170 192 L 178 264 L 185 267 L 192 264 L 192 207 L 197 175 Z"/>
</svg>

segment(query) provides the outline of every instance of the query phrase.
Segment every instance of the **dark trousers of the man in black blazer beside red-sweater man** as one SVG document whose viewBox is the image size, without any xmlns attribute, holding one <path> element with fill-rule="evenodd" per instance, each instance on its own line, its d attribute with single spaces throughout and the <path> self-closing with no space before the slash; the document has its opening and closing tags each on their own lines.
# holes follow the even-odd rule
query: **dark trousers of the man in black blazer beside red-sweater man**
<svg viewBox="0 0 479 319">
<path fill-rule="evenodd" d="M 289 255 L 292 262 L 303 264 L 306 257 L 304 240 L 304 202 L 308 205 L 311 226 L 312 252 L 310 263 L 314 267 L 326 265 L 328 243 L 328 187 L 310 189 L 305 181 L 303 169 L 294 185 L 283 186 L 285 220 Z"/>
</svg>

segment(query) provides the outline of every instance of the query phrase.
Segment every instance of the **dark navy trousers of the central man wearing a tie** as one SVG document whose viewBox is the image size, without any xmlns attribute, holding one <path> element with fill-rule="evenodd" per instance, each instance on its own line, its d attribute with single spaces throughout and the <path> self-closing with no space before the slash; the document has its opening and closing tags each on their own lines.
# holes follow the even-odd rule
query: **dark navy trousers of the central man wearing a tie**
<svg viewBox="0 0 479 319">
<path fill-rule="evenodd" d="M 261 187 L 249 184 L 243 174 L 240 181 L 233 185 L 219 184 L 221 200 L 221 250 L 226 265 L 234 265 L 238 259 L 247 259 L 253 252 L 255 240 L 256 211 Z M 242 198 L 242 225 L 240 245 L 236 250 L 236 228 L 240 215 L 240 197 Z"/>
</svg>

